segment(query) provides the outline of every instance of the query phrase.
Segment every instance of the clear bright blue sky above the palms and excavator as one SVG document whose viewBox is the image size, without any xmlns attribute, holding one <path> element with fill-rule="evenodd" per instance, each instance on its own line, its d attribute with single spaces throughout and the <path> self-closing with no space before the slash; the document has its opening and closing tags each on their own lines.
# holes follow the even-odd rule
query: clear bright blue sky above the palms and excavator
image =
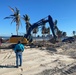
<svg viewBox="0 0 76 75">
<path fill-rule="evenodd" d="M 5 17 L 13 14 L 8 6 L 20 10 L 20 16 L 28 14 L 30 23 L 33 24 L 42 18 L 51 15 L 53 21 L 57 20 L 58 28 L 66 32 L 68 36 L 76 31 L 76 0 L 0 0 L 0 35 L 16 34 L 16 24 L 10 24 L 12 19 Z M 22 26 L 19 33 L 26 33 L 25 22 L 21 20 Z M 38 34 L 40 34 L 39 32 Z"/>
</svg>

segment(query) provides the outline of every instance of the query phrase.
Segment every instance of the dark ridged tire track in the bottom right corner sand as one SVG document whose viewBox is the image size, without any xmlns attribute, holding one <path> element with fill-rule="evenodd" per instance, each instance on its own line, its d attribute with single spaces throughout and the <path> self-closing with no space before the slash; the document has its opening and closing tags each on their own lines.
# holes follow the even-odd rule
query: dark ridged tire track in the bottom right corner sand
<svg viewBox="0 0 76 75">
<path fill-rule="evenodd" d="M 55 67 L 53 69 L 53 72 L 50 75 L 55 75 L 57 73 L 60 73 L 59 75 L 68 75 L 71 74 L 73 72 L 76 72 L 76 62 L 73 62 L 72 64 L 69 64 L 61 69 L 59 69 L 58 67 Z"/>
</svg>

